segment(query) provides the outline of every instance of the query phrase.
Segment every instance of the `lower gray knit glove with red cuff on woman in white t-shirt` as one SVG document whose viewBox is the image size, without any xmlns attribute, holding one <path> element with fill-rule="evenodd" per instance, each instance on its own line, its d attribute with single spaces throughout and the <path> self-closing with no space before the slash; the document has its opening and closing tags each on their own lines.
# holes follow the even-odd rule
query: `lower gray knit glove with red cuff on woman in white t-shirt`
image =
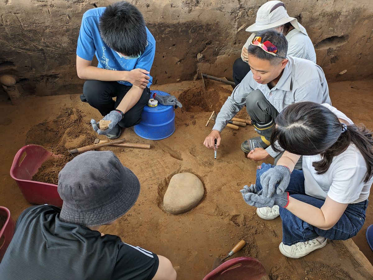
<svg viewBox="0 0 373 280">
<path fill-rule="evenodd" d="M 286 207 L 289 203 L 288 192 L 283 192 L 282 194 L 274 194 L 272 197 L 268 198 L 261 194 L 261 191 L 256 194 L 255 185 L 251 185 L 250 188 L 244 186 L 244 189 L 242 189 L 240 192 L 242 193 L 244 201 L 248 205 L 254 206 L 256 208 L 273 207 L 273 205 Z"/>
</svg>

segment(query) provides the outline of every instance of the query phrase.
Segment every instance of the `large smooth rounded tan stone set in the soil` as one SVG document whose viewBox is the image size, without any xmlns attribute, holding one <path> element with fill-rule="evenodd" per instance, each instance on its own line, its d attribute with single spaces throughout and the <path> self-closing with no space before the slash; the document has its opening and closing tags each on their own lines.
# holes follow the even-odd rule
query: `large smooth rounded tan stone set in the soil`
<svg viewBox="0 0 373 280">
<path fill-rule="evenodd" d="M 200 202 L 204 192 L 201 180 L 194 174 L 176 174 L 172 176 L 164 194 L 164 209 L 171 214 L 189 211 Z"/>
</svg>

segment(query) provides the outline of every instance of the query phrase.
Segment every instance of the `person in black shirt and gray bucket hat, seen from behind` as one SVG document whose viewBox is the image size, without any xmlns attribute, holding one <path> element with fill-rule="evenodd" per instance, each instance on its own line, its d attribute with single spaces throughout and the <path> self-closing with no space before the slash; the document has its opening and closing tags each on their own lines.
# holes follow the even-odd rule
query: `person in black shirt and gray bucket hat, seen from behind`
<svg viewBox="0 0 373 280">
<path fill-rule="evenodd" d="M 110 151 L 75 157 L 59 173 L 62 209 L 27 208 L 0 263 L 2 280 L 175 280 L 171 262 L 118 236 L 98 232 L 125 214 L 140 183 Z"/>
</svg>

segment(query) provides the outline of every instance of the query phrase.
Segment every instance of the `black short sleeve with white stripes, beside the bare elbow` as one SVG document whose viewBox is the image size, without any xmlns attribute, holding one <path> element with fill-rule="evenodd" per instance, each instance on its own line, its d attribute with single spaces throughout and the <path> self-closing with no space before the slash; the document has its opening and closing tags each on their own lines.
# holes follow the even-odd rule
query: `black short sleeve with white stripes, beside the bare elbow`
<svg viewBox="0 0 373 280">
<path fill-rule="evenodd" d="M 112 280 L 153 279 L 159 265 L 159 259 L 156 254 L 123 242 L 118 244 L 117 252 Z"/>
</svg>

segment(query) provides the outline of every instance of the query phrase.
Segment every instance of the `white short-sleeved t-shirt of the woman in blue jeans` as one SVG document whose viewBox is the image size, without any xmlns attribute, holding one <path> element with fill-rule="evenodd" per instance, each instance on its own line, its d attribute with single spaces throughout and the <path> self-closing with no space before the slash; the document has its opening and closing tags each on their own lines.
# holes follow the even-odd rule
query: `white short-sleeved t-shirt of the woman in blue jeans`
<svg viewBox="0 0 373 280">
<path fill-rule="evenodd" d="M 339 119 L 346 120 L 346 125 L 353 124 L 341 111 L 329 104 L 322 105 L 335 113 Z M 348 204 L 368 198 L 373 177 L 369 182 L 364 183 L 367 165 L 363 155 L 354 144 L 333 158 L 327 172 L 317 175 L 312 163 L 319 160 L 321 160 L 320 154 L 303 156 L 304 190 L 307 195 L 324 200 L 326 196 L 329 196 L 336 202 Z"/>
</svg>

